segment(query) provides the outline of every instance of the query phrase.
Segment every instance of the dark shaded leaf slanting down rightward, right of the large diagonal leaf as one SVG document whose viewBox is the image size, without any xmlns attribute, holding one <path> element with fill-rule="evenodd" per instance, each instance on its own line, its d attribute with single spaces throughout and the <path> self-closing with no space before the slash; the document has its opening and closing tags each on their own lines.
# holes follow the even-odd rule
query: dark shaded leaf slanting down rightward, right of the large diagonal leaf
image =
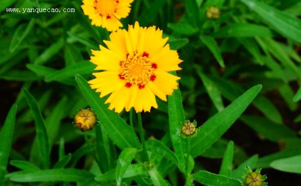
<svg viewBox="0 0 301 186">
<path fill-rule="evenodd" d="M 263 137 L 274 142 L 279 142 L 279 140 L 284 138 L 295 137 L 293 131 L 285 125 L 273 123 L 263 117 L 243 115 L 239 119 Z"/>
</svg>

